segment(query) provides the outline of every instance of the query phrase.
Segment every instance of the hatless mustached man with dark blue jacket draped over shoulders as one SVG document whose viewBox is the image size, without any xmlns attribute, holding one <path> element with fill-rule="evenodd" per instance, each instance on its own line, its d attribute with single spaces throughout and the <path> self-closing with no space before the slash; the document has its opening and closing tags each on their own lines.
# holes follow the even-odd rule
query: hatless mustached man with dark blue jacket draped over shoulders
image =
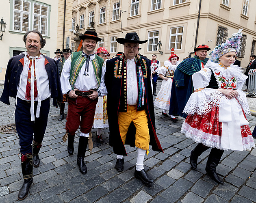
<svg viewBox="0 0 256 203">
<path fill-rule="evenodd" d="M 57 63 L 40 53 L 46 44 L 40 32 L 28 31 L 23 37 L 27 52 L 9 60 L 0 101 L 10 104 L 16 99 L 15 125 L 20 138 L 21 166 L 24 183 L 18 199 L 25 199 L 33 182 L 33 166 L 39 166 L 38 156 L 46 131 L 50 110 L 62 100 Z M 32 147 L 31 147 L 32 144 Z M 32 165 L 33 163 L 33 165 Z"/>
</svg>

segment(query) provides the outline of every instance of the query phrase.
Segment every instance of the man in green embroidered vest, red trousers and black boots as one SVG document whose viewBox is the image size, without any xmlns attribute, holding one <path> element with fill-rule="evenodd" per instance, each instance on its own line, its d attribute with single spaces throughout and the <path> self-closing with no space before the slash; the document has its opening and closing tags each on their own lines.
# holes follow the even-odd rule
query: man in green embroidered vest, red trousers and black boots
<svg viewBox="0 0 256 203">
<path fill-rule="evenodd" d="M 80 125 L 80 137 L 77 153 L 77 164 L 82 174 L 87 173 L 84 162 L 89 132 L 93 125 L 98 97 L 106 95 L 104 85 L 104 60 L 94 54 L 94 49 L 101 39 L 96 32 L 86 31 L 79 36 L 82 39 L 83 51 L 73 52 L 65 60 L 61 73 L 61 89 L 68 93 L 68 110 L 66 131 L 68 134 L 67 151 L 74 153 L 74 137 Z"/>
</svg>

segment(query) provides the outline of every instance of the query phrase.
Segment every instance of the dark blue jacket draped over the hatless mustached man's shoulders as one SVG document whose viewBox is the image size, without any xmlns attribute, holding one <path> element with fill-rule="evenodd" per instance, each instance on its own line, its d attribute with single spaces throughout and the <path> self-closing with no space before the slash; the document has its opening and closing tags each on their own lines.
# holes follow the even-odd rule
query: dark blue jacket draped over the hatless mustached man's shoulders
<svg viewBox="0 0 256 203">
<path fill-rule="evenodd" d="M 43 55 L 44 56 L 44 55 Z M 57 69 L 57 63 L 52 58 L 48 56 L 45 57 L 45 68 L 49 77 L 49 85 L 51 91 L 51 97 L 53 99 L 53 105 L 58 106 L 57 100 L 62 101 L 62 92 L 61 92 L 61 82 Z M 24 66 L 24 54 L 18 56 L 13 56 L 7 65 L 7 70 L 5 73 L 4 80 L 4 90 L 0 97 L 0 101 L 4 104 L 10 105 L 9 97 L 16 99 L 17 95 L 17 86 L 20 81 L 20 74 L 22 73 Z"/>
</svg>

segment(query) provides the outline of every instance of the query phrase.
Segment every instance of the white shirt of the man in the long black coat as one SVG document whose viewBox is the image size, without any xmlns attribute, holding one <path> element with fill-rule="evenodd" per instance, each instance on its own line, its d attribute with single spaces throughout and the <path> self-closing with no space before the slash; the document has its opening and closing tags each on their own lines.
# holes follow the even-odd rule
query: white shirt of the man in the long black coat
<svg viewBox="0 0 256 203">
<path fill-rule="evenodd" d="M 127 104 L 136 105 L 138 101 L 138 81 L 135 58 L 127 59 Z"/>
</svg>

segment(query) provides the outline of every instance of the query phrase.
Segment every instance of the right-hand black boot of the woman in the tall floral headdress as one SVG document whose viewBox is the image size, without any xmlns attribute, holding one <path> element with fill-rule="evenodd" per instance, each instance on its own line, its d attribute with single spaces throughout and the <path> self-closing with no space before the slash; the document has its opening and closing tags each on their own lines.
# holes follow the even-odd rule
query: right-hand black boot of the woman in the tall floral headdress
<svg viewBox="0 0 256 203">
<path fill-rule="evenodd" d="M 223 184 L 223 180 L 216 173 L 216 167 L 218 166 L 219 161 L 221 160 L 223 152 L 224 150 L 213 148 L 210 151 L 210 155 L 208 157 L 205 167 L 206 173 L 210 175 L 210 177 L 212 177 L 213 180 L 215 180 L 218 184 Z"/>
</svg>

